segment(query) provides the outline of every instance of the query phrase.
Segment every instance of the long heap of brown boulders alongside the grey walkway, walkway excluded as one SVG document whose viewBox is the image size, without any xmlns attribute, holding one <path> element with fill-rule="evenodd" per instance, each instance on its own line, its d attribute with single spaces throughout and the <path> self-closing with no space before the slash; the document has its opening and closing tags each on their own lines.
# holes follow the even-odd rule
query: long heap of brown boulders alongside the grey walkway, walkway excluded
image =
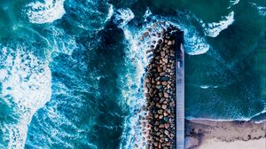
<svg viewBox="0 0 266 149">
<path fill-rule="evenodd" d="M 152 41 L 153 58 L 146 67 L 144 107 L 147 115 L 142 122 L 145 148 L 176 148 L 176 35 L 181 31 L 169 25 Z M 145 36 L 150 33 L 146 32 Z M 154 35 L 154 34 L 153 34 Z M 137 146 L 137 145 L 136 145 Z"/>
</svg>

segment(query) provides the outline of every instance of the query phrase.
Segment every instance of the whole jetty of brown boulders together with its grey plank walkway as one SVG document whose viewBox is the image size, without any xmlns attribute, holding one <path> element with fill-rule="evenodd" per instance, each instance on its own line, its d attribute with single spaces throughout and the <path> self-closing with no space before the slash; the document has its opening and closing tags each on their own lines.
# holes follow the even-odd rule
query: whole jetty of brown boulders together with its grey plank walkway
<svg viewBox="0 0 266 149">
<path fill-rule="evenodd" d="M 160 22 L 155 22 L 154 26 L 156 23 Z M 151 35 L 155 34 L 145 32 L 142 38 Z M 142 118 L 141 126 L 145 144 L 142 147 L 137 144 L 134 146 L 163 149 L 178 148 L 180 145 L 184 147 L 184 33 L 168 25 L 156 36 L 159 39 L 153 41 L 155 46 L 151 45 L 146 51 L 152 53 L 153 58 L 146 66 L 144 82 L 146 105 L 143 109 L 147 115 Z M 176 75 L 180 72 L 183 74 Z M 182 86 L 180 89 L 183 92 L 178 92 L 180 90 L 176 90 L 176 85 Z M 179 103 L 176 101 L 176 93 L 181 95 L 180 101 L 183 104 L 180 106 L 176 106 Z"/>
</svg>

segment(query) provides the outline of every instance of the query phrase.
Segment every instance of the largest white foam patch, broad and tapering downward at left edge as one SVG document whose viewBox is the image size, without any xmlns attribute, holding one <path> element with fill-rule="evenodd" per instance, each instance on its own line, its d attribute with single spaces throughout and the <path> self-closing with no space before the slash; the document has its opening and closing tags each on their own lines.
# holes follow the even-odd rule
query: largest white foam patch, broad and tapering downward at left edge
<svg viewBox="0 0 266 149">
<path fill-rule="evenodd" d="M 24 148 L 27 125 L 35 112 L 51 98 L 51 71 L 47 62 L 40 61 L 22 47 L 9 50 L 5 59 L 4 79 L 0 97 L 15 112 L 18 122 L 5 123 L 8 148 Z M 1 59 L 3 60 L 3 59 Z"/>
</svg>

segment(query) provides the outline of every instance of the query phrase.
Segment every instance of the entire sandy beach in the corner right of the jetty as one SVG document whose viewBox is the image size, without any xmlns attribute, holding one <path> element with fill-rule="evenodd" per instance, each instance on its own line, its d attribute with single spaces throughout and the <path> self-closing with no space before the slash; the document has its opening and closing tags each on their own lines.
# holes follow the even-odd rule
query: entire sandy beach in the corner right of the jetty
<svg viewBox="0 0 266 149">
<path fill-rule="evenodd" d="M 186 149 L 265 149 L 266 122 L 186 121 Z"/>
</svg>

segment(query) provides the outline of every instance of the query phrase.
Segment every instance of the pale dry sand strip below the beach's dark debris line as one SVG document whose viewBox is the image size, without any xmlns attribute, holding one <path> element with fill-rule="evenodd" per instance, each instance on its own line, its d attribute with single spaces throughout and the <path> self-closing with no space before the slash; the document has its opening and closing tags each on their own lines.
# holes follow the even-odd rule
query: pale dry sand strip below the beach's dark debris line
<svg viewBox="0 0 266 149">
<path fill-rule="evenodd" d="M 218 139 L 207 139 L 199 149 L 265 149 L 266 138 L 249 141 L 222 142 Z"/>
</svg>

